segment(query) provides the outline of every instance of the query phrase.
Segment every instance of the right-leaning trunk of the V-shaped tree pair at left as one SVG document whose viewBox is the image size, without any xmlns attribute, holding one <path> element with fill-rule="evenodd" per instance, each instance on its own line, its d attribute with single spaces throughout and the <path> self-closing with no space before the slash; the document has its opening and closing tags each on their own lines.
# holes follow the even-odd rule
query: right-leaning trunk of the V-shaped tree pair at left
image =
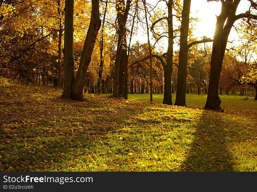
<svg viewBox="0 0 257 192">
<path fill-rule="evenodd" d="M 100 29 L 101 20 L 99 15 L 99 0 L 92 0 L 92 12 L 90 24 L 86 34 L 81 59 L 79 62 L 79 69 L 75 77 L 71 98 L 77 101 L 83 101 L 83 87 L 86 77 L 86 72 L 91 61 L 91 55 L 94 49 L 96 36 Z"/>
</svg>

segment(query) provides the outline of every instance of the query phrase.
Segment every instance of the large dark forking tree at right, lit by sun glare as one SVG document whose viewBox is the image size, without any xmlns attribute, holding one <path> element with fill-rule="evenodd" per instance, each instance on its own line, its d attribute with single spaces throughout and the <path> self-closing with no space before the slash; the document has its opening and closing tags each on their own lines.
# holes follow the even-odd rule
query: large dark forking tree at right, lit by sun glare
<svg viewBox="0 0 257 192">
<path fill-rule="evenodd" d="M 218 0 L 207 0 L 207 1 L 218 1 Z M 213 46 L 211 54 L 211 68 L 210 68 L 210 80 L 208 87 L 208 95 L 206 99 L 205 109 L 221 110 L 220 108 L 220 97 L 218 96 L 218 85 L 220 72 L 222 69 L 222 62 L 227 46 L 228 36 L 230 30 L 236 20 L 241 18 L 257 19 L 256 15 L 251 14 L 251 10 L 246 13 L 236 15 L 237 7 L 240 0 L 219 0 L 221 2 L 221 12 L 217 16 L 216 28 L 213 36 Z M 257 4 L 252 0 L 250 8 L 257 8 Z"/>
</svg>

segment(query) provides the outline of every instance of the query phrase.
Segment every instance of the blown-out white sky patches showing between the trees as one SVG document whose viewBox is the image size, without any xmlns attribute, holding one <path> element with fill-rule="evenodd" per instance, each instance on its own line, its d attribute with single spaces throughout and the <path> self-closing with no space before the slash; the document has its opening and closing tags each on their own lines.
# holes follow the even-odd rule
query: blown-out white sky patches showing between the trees
<svg viewBox="0 0 257 192">
<path fill-rule="evenodd" d="M 155 5 L 158 0 L 148 0 L 152 5 Z M 183 0 L 181 0 L 183 1 Z M 247 8 L 249 8 L 249 1 L 241 0 L 237 14 L 245 13 Z M 207 38 L 213 38 L 215 25 L 216 25 L 216 15 L 220 14 L 221 10 L 221 3 L 207 0 L 191 0 L 191 17 L 197 17 L 199 22 L 196 24 L 196 29 L 194 30 L 193 34 L 195 37 L 198 37 L 200 40 L 202 36 L 206 36 Z M 237 33 L 235 30 L 231 30 L 229 39 L 235 40 L 237 39 Z M 147 36 L 142 35 L 139 37 L 140 43 L 147 43 Z M 137 39 L 138 40 L 138 39 Z M 167 45 L 165 45 L 167 40 L 164 40 L 163 47 L 167 49 Z M 210 43 L 212 44 L 212 43 Z M 174 50 L 178 49 L 174 44 Z M 166 51 L 166 50 L 165 50 Z"/>
</svg>

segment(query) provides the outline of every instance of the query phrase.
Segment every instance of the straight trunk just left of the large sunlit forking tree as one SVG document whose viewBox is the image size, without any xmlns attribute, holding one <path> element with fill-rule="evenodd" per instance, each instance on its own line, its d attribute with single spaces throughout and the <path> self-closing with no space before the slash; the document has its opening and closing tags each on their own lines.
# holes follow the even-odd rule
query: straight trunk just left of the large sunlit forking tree
<svg viewBox="0 0 257 192">
<path fill-rule="evenodd" d="M 187 36 L 189 27 L 191 0 L 183 1 L 182 21 L 180 29 L 180 47 L 178 57 L 178 80 L 175 105 L 186 106 L 186 87 L 187 87 Z"/>
</svg>

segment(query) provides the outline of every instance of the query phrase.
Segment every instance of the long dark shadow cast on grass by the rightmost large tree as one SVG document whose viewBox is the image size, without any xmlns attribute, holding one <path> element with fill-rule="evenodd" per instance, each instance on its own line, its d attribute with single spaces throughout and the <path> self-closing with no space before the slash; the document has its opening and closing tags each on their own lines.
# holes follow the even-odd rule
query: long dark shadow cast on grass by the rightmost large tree
<svg viewBox="0 0 257 192">
<path fill-rule="evenodd" d="M 196 128 L 196 139 L 181 171 L 233 171 L 227 126 L 229 124 L 224 124 L 219 113 L 203 111 Z"/>
</svg>

